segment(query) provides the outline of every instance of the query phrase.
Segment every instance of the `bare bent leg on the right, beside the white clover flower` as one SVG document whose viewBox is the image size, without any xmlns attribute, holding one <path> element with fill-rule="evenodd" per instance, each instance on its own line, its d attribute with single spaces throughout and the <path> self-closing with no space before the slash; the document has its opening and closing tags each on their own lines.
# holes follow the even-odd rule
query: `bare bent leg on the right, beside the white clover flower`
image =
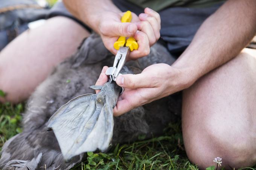
<svg viewBox="0 0 256 170">
<path fill-rule="evenodd" d="M 201 169 L 256 163 L 256 50 L 213 70 L 183 95 L 183 137 L 187 156 Z"/>
</svg>

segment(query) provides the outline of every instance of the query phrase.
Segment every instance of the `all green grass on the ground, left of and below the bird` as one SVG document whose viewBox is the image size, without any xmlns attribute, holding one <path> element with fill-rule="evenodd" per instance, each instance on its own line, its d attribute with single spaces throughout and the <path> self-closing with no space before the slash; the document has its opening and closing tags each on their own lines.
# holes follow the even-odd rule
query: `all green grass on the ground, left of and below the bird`
<svg viewBox="0 0 256 170">
<path fill-rule="evenodd" d="M 0 104 L 0 151 L 3 144 L 21 129 L 21 113 L 24 104 Z M 184 151 L 180 122 L 170 124 L 165 134 L 145 140 L 140 136 L 138 142 L 113 146 L 105 153 L 87 153 L 87 160 L 77 164 L 72 170 L 198 170 L 189 162 Z M 244 169 L 255 169 L 256 166 Z"/>
</svg>

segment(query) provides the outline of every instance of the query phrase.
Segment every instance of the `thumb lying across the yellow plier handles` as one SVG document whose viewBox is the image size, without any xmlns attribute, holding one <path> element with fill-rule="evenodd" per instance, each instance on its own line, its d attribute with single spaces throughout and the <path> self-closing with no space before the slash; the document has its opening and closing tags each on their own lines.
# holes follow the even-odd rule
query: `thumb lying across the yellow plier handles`
<svg viewBox="0 0 256 170">
<path fill-rule="evenodd" d="M 103 24 L 101 32 L 106 36 L 131 37 L 136 33 L 137 29 L 137 25 L 131 22 L 107 22 Z"/>
</svg>

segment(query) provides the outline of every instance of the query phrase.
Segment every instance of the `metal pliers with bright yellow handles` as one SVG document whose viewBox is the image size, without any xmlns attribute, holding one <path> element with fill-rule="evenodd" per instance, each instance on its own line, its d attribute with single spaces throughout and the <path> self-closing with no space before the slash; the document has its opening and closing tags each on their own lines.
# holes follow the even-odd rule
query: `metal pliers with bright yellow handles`
<svg viewBox="0 0 256 170">
<path fill-rule="evenodd" d="M 131 22 L 131 19 L 131 11 L 128 10 L 122 16 L 121 22 Z M 129 55 L 130 51 L 138 49 L 139 45 L 133 37 L 129 37 L 126 40 L 126 37 L 120 36 L 114 43 L 114 48 L 117 50 L 117 54 L 113 67 L 109 67 L 105 73 L 107 76 L 110 76 L 110 81 L 116 81 L 117 76 L 120 75 L 120 71 L 126 62 L 126 56 Z"/>
</svg>

